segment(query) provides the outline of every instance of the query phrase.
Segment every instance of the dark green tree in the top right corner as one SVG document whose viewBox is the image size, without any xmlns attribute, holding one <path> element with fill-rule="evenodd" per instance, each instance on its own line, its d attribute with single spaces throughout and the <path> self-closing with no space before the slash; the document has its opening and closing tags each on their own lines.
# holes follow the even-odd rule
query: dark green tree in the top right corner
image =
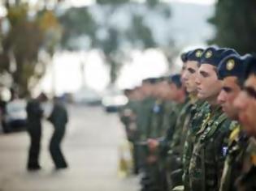
<svg viewBox="0 0 256 191">
<path fill-rule="evenodd" d="M 219 0 L 215 16 L 209 22 L 216 34 L 209 43 L 231 47 L 239 53 L 256 52 L 256 2 L 251 0 Z"/>
</svg>

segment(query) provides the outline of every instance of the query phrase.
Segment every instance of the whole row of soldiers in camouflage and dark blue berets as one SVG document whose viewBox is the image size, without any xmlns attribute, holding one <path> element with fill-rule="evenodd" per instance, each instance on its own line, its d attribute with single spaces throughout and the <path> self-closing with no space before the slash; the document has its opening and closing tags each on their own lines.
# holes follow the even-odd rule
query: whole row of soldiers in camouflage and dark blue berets
<svg viewBox="0 0 256 191">
<path fill-rule="evenodd" d="M 181 60 L 180 74 L 125 91 L 141 190 L 256 190 L 256 58 L 211 46 Z"/>
</svg>

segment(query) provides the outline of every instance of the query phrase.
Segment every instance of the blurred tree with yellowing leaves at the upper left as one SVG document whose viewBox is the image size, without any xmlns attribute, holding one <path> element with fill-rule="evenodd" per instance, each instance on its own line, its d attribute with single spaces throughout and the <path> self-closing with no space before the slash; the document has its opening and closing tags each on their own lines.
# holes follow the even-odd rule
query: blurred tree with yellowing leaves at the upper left
<svg viewBox="0 0 256 191">
<path fill-rule="evenodd" d="M 46 70 L 46 62 L 38 61 L 41 51 L 54 53 L 60 39 L 58 19 L 52 11 L 38 11 L 29 15 L 28 4 L 15 1 L 7 6 L 9 30 L 1 34 L 0 72 L 11 74 L 22 96 L 29 94 L 31 79 L 35 85 Z"/>
</svg>

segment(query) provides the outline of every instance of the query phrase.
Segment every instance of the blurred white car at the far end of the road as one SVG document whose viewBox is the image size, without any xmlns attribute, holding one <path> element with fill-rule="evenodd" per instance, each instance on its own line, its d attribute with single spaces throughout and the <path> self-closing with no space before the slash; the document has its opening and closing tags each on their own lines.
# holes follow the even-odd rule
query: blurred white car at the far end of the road
<svg viewBox="0 0 256 191">
<path fill-rule="evenodd" d="M 128 99 L 122 91 L 110 89 L 102 98 L 102 106 L 106 112 L 117 112 L 118 109 L 127 104 Z"/>
</svg>

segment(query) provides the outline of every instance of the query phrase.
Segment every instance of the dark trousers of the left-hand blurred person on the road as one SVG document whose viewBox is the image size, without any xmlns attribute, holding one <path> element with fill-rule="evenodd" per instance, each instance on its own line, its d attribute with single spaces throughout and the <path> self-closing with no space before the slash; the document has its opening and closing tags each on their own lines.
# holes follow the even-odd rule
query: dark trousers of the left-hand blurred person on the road
<svg viewBox="0 0 256 191">
<path fill-rule="evenodd" d="M 41 125 L 28 128 L 30 146 L 28 150 L 27 168 L 39 168 L 39 154 L 41 147 Z"/>
</svg>

